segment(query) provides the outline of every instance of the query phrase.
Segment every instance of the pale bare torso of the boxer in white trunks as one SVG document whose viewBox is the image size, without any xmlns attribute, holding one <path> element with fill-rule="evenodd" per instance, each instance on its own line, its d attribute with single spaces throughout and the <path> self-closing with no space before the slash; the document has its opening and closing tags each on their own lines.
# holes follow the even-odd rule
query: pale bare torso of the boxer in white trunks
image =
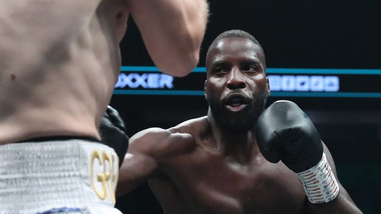
<svg viewBox="0 0 381 214">
<path fill-rule="evenodd" d="M 124 0 L 0 2 L 0 144 L 97 124 L 120 69 Z"/>
</svg>

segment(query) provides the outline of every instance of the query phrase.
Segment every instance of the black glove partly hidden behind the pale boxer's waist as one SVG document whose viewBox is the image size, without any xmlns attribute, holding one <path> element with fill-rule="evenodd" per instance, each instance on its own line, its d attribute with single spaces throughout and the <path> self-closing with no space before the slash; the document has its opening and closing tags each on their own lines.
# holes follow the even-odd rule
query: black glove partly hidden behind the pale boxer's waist
<svg viewBox="0 0 381 214">
<path fill-rule="evenodd" d="M 115 108 L 108 106 L 103 113 L 99 134 L 102 142 L 115 150 L 119 157 L 119 166 L 121 166 L 128 148 L 128 136 L 125 122 Z"/>
</svg>

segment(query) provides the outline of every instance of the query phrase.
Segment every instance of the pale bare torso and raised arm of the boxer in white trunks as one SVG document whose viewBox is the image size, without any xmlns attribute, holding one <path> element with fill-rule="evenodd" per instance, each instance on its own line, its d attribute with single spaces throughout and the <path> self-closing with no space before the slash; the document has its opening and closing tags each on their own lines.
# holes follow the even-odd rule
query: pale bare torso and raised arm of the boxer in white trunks
<svg viewBox="0 0 381 214">
<path fill-rule="evenodd" d="M 100 140 L 97 127 L 120 72 L 128 15 L 159 69 L 184 76 L 198 62 L 207 5 L 6 0 L 0 14 L 0 144 L 46 136 Z"/>
</svg>

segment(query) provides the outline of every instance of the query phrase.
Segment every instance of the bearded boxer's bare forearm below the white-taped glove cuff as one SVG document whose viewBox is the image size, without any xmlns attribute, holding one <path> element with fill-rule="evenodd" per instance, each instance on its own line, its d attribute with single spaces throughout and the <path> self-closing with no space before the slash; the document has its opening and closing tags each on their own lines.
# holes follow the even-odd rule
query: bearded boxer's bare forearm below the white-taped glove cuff
<svg viewBox="0 0 381 214">
<path fill-rule="evenodd" d="M 309 202 L 308 202 L 309 203 Z M 329 203 L 312 204 L 309 203 L 309 214 L 362 214 L 362 212 L 348 200 L 344 195 L 339 196 Z"/>
</svg>

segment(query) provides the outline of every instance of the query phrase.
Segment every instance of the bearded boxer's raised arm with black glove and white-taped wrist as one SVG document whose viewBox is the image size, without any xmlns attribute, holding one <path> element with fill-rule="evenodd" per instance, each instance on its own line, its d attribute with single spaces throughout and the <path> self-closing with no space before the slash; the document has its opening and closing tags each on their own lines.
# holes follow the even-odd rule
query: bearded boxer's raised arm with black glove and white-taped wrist
<svg viewBox="0 0 381 214">
<path fill-rule="evenodd" d="M 328 149 L 310 118 L 295 103 L 278 101 L 259 116 L 256 140 L 263 157 L 295 172 L 308 199 L 308 213 L 361 214 L 338 182 Z"/>
</svg>

